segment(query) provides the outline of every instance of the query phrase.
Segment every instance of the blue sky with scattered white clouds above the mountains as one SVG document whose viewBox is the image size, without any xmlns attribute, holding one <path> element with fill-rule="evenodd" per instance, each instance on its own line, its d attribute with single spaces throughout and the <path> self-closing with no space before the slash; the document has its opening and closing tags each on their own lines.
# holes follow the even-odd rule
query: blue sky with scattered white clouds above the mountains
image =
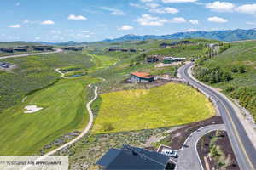
<svg viewBox="0 0 256 170">
<path fill-rule="evenodd" d="M 93 42 L 256 27 L 255 0 L 3 0 L 0 41 Z"/>
</svg>

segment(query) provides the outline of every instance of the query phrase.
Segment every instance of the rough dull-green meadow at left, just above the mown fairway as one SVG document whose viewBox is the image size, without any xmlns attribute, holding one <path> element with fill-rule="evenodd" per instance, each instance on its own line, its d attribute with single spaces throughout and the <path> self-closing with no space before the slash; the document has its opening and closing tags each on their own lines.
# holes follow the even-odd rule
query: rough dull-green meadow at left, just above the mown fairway
<svg viewBox="0 0 256 170">
<path fill-rule="evenodd" d="M 76 66 L 82 69 L 94 67 L 90 57 L 81 52 L 33 55 L 23 58 L 1 59 L 17 65 L 9 72 L 0 72 L 0 114 L 4 109 L 20 103 L 26 94 L 49 86 L 60 78 L 56 68 Z"/>
</svg>

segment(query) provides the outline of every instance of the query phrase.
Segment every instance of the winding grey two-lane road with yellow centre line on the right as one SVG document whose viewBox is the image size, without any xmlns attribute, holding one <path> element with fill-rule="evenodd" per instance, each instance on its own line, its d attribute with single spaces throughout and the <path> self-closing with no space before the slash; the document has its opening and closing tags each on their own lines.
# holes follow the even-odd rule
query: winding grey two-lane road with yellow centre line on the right
<svg viewBox="0 0 256 170">
<path fill-rule="evenodd" d="M 223 94 L 197 81 L 191 75 L 191 67 L 193 65 L 193 63 L 183 65 L 178 71 L 179 77 L 183 77 L 191 85 L 201 90 L 207 96 L 210 96 L 215 105 L 218 106 L 218 111 L 223 118 L 230 143 L 241 170 L 256 170 L 256 150 L 236 115 L 236 109 Z"/>
</svg>

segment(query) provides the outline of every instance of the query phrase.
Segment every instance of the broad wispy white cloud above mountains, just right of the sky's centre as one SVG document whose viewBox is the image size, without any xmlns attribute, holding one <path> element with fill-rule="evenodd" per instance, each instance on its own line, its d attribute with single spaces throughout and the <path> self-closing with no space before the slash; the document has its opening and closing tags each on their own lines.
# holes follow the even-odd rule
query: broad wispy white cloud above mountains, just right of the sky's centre
<svg viewBox="0 0 256 170">
<path fill-rule="evenodd" d="M 137 19 L 137 22 L 142 26 L 163 26 L 168 20 L 159 17 L 151 16 L 150 14 L 143 14 Z"/>
</svg>

